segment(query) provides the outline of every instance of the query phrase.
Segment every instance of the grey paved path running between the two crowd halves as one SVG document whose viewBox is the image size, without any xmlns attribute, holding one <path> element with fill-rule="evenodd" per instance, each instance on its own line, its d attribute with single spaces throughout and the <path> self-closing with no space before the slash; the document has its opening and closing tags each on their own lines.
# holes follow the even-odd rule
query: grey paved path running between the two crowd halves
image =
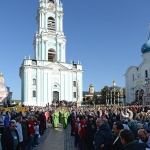
<svg viewBox="0 0 150 150">
<path fill-rule="evenodd" d="M 77 150 L 74 148 L 74 136 L 70 136 L 70 125 L 67 129 L 63 129 L 61 124 L 56 129 L 50 126 L 39 142 L 33 150 Z"/>
</svg>

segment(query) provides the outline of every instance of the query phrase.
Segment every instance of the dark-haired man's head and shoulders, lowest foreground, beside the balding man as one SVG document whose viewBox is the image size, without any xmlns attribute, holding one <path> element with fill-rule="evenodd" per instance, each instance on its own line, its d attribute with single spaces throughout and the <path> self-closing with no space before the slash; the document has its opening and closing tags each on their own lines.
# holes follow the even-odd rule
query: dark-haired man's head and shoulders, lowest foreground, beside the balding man
<svg viewBox="0 0 150 150">
<path fill-rule="evenodd" d="M 149 146 L 145 143 L 136 143 L 132 131 L 123 129 L 119 134 L 124 150 L 145 150 Z"/>
</svg>

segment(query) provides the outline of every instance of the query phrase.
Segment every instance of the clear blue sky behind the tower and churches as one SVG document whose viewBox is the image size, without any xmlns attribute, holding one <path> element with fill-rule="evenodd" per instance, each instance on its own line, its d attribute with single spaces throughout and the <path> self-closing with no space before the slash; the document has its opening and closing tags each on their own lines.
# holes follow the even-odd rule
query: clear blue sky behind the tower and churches
<svg viewBox="0 0 150 150">
<path fill-rule="evenodd" d="M 150 0 L 62 0 L 67 62 L 83 65 L 83 90 L 94 85 L 100 91 L 125 87 L 124 74 L 142 62 L 141 47 L 147 41 Z M 34 58 L 39 0 L 0 0 L 0 72 L 21 99 L 19 67 L 24 56 Z"/>
</svg>

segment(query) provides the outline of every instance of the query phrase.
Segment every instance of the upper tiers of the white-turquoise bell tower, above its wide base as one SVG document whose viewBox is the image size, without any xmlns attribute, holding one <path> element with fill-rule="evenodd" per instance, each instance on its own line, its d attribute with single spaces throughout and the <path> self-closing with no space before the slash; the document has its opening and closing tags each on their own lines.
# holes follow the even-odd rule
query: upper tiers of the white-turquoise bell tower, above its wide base
<svg viewBox="0 0 150 150">
<path fill-rule="evenodd" d="M 34 59 L 66 62 L 66 37 L 63 32 L 63 6 L 59 0 L 40 0 L 38 29 L 34 37 Z"/>
</svg>

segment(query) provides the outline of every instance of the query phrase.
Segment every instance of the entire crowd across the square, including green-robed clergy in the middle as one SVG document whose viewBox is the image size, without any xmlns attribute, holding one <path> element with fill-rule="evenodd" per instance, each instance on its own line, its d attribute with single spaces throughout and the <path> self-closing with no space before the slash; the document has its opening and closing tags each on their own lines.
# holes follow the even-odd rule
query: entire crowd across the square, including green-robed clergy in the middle
<svg viewBox="0 0 150 150">
<path fill-rule="evenodd" d="M 26 113 L 0 110 L 3 150 L 32 150 L 50 124 L 71 125 L 80 150 L 146 150 L 150 147 L 150 106 L 26 107 Z"/>
</svg>

